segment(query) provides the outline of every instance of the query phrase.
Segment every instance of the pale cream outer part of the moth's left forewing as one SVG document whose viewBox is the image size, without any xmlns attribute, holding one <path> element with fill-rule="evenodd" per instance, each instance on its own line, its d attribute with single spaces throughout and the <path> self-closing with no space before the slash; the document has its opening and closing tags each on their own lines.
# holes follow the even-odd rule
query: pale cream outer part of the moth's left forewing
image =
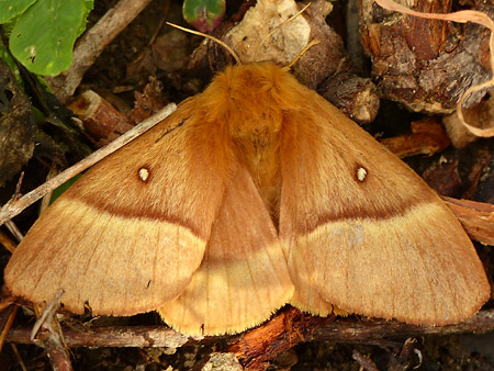
<svg viewBox="0 0 494 371">
<path fill-rule="evenodd" d="M 46 213 L 58 215 L 40 220 L 44 238 L 25 237 L 38 254 L 31 261 L 14 255 L 5 274 L 13 293 L 33 302 L 61 288 L 61 302 L 74 313 L 86 302 L 93 314 L 148 312 L 183 292 L 203 257 L 205 241 L 180 224 L 115 215 L 67 198 Z"/>
</svg>

